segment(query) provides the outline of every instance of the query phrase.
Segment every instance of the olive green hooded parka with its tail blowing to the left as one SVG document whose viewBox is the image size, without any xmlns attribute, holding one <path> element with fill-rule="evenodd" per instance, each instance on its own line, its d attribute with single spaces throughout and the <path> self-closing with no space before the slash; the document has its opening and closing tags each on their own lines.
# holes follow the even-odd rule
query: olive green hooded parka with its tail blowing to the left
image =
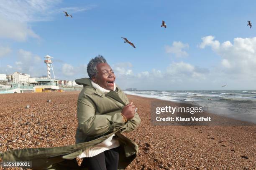
<svg viewBox="0 0 256 170">
<path fill-rule="evenodd" d="M 77 101 L 76 144 L 8 150 L 0 153 L 3 161 L 31 161 L 34 170 L 87 170 L 77 165 L 77 156 L 113 134 L 121 147 L 118 170 L 124 170 L 133 161 L 138 145 L 121 133 L 135 130 L 141 119 L 136 112 L 132 119 L 123 122 L 120 112 L 129 103 L 124 92 L 116 86 L 115 91 L 105 94 L 92 87 L 89 78 L 75 81 L 84 86 Z"/>
</svg>

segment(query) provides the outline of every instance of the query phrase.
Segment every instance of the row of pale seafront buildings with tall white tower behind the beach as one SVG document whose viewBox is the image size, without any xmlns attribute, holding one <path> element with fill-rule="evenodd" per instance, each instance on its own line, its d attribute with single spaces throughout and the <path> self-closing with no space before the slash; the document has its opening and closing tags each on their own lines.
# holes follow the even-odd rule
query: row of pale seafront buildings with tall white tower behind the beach
<svg viewBox="0 0 256 170">
<path fill-rule="evenodd" d="M 46 63 L 47 75 L 42 77 L 31 77 L 29 74 L 22 72 L 14 72 L 10 75 L 0 74 L 0 94 L 82 90 L 82 86 L 77 85 L 75 81 L 55 79 L 52 58 L 49 55 L 45 56 L 44 63 Z M 53 78 L 51 78 L 51 70 L 54 75 Z"/>
</svg>

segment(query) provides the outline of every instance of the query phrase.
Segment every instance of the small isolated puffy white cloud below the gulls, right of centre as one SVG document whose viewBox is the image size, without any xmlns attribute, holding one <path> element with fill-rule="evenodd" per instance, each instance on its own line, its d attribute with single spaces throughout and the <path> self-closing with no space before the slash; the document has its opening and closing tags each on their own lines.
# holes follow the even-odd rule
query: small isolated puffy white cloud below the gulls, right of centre
<svg viewBox="0 0 256 170">
<path fill-rule="evenodd" d="M 180 41 L 174 41 L 172 46 L 166 45 L 165 52 L 176 55 L 177 57 L 187 56 L 187 52 L 184 49 L 189 48 L 188 44 L 183 44 Z"/>
</svg>

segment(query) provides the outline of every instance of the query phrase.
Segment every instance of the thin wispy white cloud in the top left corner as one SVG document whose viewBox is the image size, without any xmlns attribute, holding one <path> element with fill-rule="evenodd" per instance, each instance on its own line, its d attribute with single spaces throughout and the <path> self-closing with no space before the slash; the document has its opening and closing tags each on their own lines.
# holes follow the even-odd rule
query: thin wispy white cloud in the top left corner
<svg viewBox="0 0 256 170">
<path fill-rule="evenodd" d="M 28 37 L 39 38 L 29 26 L 31 22 L 53 20 L 54 16 L 68 10 L 77 13 L 90 10 L 88 7 L 56 7 L 62 0 L 1 0 L 0 38 L 26 41 Z"/>
</svg>

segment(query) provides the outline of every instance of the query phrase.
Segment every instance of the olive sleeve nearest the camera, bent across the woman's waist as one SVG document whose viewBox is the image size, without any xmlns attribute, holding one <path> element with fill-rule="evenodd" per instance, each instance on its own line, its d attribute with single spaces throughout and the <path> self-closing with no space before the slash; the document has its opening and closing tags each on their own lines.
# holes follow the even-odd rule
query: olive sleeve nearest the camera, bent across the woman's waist
<svg viewBox="0 0 256 170">
<path fill-rule="evenodd" d="M 90 99 L 78 99 L 78 127 L 87 136 L 97 137 L 105 135 L 125 125 L 120 112 L 114 115 L 95 115 L 95 110 L 96 107 Z"/>
</svg>

